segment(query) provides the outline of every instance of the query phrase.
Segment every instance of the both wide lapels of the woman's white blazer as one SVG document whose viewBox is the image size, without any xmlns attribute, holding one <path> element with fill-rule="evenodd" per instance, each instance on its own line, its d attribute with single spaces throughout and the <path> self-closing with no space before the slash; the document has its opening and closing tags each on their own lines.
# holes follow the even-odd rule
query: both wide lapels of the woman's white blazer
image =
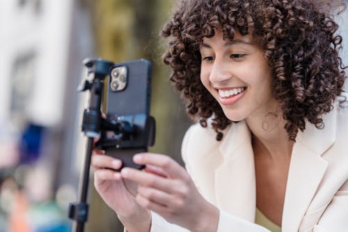
<svg viewBox="0 0 348 232">
<path fill-rule="evenodd" d="M 324 129 L 306 123 L 292 150 L 287 178 L 282 231 L 298 231 L 326 171 L 321 155 L 335 141 L 336 111 L 323 116 Z M 251 133 L 244 121 L 232 123 L 219 146 L 223 162 L 215 171 L 215 195 L 219 208 L 250 222 L 255 220 L 255 166 Z"/>
</svg>

